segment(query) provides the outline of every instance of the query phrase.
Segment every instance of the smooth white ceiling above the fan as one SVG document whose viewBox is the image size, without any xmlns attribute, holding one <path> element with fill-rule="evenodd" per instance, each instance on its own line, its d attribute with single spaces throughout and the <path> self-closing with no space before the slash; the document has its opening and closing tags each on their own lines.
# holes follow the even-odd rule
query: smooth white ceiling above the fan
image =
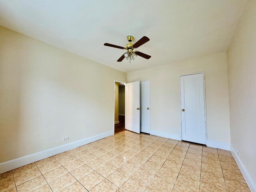
<svg viewBox="0 0 256 192">
<path fill-rule="evenodd" d="M 226 51 L 247 0 L 0 0 L 0 25 L 124 72 Z M 152 56 L 116 62 L 125 46 Z"/>
</svg>

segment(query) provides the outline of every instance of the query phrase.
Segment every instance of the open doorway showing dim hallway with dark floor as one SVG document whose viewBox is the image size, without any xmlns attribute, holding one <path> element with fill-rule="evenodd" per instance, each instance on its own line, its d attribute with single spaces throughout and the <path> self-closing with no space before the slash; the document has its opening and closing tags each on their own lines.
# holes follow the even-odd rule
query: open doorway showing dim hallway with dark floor
<svg viewBox="0 0 256 192">
<path fill-rule="evenodd" d="M 125 129 L 125 83 L 115 81 L 114 133 Z"/>
</svg>

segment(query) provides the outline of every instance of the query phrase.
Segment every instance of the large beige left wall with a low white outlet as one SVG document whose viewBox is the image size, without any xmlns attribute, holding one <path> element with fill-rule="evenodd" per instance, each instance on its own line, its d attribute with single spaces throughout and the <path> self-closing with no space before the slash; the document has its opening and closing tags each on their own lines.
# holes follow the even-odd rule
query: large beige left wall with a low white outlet
<svg viewBox="0 0 256 192">
<path fill-rule="evenodd" d="M 112 131 L 114 80 L 126 73 L 0 27 L 0 162 Z"/>
</svg>

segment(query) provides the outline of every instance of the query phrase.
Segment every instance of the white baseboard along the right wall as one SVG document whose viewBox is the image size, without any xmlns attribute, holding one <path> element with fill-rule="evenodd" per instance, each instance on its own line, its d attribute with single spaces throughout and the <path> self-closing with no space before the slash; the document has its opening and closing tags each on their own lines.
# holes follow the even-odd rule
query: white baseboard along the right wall
<svg viewBox="0 0 256 192">
<path fill-rule="evenodd" d="M 242 175 L 244 176 L 244 180 L 246 181 L 246 184 L 248 185 L 250 191 L 256 192 L 256 183 L 250 176 L 249 172 L 247 171 L 246 167 L 244 166 L 244 163 L 242 162 L 242 160 L 240 159 L 240 157 L 238 156 L 238 154 L 236 153 L 236 151 L 232 145 L 230 145 L 230 152 L 232 153 L 232 155 L 236 161 L 236 164 L 238 165 Z"/>
</svg>

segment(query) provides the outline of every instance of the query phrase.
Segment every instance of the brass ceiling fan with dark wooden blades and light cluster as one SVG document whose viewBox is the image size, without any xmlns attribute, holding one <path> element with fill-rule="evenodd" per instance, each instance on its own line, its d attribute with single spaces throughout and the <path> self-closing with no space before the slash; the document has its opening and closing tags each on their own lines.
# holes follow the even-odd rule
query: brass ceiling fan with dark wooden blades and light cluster
<svg viewBox="0 0 256 192">
<path fill-rule="evenodd" d="M 114 47 L 114 48 L 118 48 L 118 49 L 126 49 L 127 52 L 125 52 L 118 60 L 117 62 L 121 62 L 124 58 L 126 58 L 127 60 L 131 60 L 134 58 L 136 58 L 136 56 L 141 56 L 145 59 L 149 59 L 151 56 L 144 54 L 142 52 L 139 51 L 134 51 L 134 49 L 138 48 L 139 46 L 143 45 L 144 43 L 149 41 L 149 38 L 146 36 L 143 36 L 140 40 L 138 40 L 136 43 L 132 44 L 132 40 L 133 40 L 133 36 L 127 36 L 127 40 L 128 40 L 128 44 L 126 44 L 126 47 L 121 47 L 118 45 L 113 45 L 113 44 L 109 44 L 109 43 L 105 43 L 105 46 L 109 46 L 109 47 Z"/>
</svg>

